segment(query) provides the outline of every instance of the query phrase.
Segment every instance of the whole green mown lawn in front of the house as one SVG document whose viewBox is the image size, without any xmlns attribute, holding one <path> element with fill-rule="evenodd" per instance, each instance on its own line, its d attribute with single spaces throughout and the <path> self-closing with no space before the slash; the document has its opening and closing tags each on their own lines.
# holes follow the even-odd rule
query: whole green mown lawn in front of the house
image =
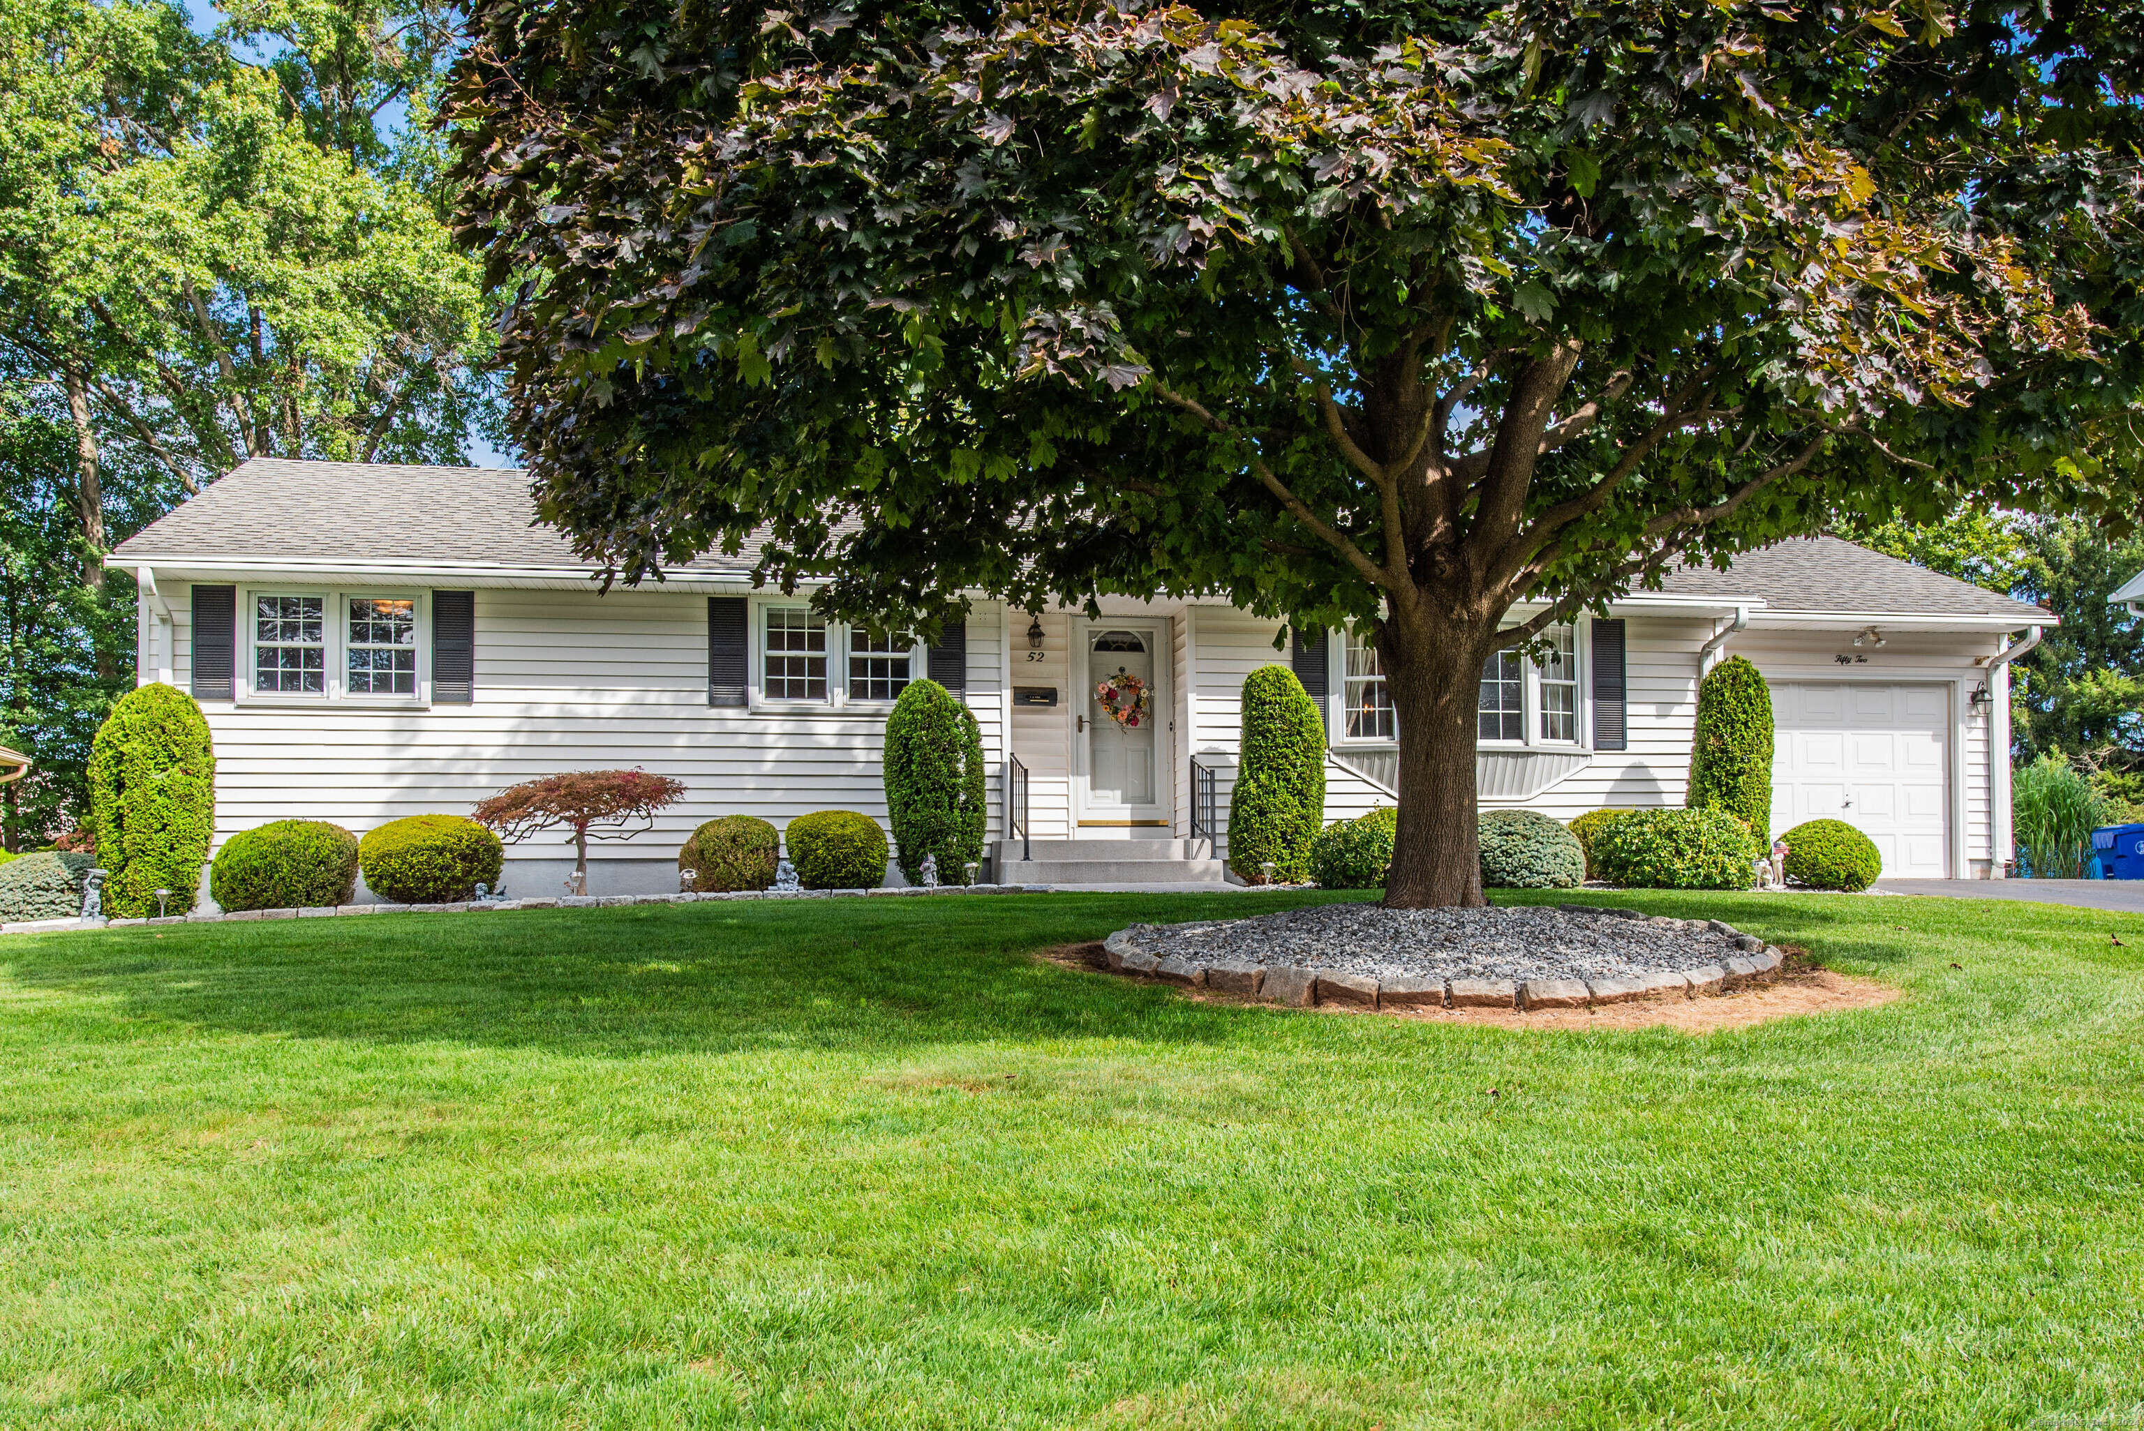
<svg viewBox="0 0 2144 1431">
<path fill-rule="evenodd" d="M 11 938 L 0 1427 L 2144 1401 L 2144 919 L 1638 898 L 1910 992 L 1704 1039 L 1196 1005 L 1027 958 L 1291 898 Z"/>
</svg>

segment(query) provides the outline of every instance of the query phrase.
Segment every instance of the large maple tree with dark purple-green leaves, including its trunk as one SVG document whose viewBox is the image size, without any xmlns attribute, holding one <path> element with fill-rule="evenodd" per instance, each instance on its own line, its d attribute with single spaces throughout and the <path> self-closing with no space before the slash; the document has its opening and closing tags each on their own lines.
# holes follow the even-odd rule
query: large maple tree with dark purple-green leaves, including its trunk
<svg viewBox="0 0 2144 1431">
<path fill-rule="evenodd" d="M 448 114 L 583 555 L 1355 621 L 1415 906 L 1494 651 L 1857 512 L 2133 518 L 2131 11 L 478 0 Z"/>
</svg>

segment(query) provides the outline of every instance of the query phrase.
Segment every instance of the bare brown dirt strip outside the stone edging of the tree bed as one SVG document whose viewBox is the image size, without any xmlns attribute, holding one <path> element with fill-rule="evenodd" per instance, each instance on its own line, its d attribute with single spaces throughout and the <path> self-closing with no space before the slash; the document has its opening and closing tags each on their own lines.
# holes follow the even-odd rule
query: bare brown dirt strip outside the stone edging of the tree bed
<svg viewBox="0 0 2144 1431">
<path fill-rule="evenodd" d="M 1698 998 L 1644 998 L 1621 1005 L 1599 1005 L 1591 1009 L 1537 1009 L 1520 1013 L 1516 1009 L 1379 1009 L 1376 1018 L 1404 1018 L 1430 1024 L 1490 1024 L 1497 1028 L 1679 1028 L 1681 1033 L 1713 1033 L 1717 1028 L 1747 1028 L 1775 1018 L 1799 1018 L 1803 1013 L 1844 1013 L 1848 1009 L 1874 1009 L 1906 996 L 1906 990 L 1876 979 L 1840 975 L 1810 962 L 1807 949 L 1782 947 L 1786 964 L 1780 975 L 1754 988 L 1726 994 L 1700 994 Z M 1053 945 L 1036 958 L 1063 968 L 1108 973 L 1108 955 L 1102 945 Z M 1115 975 L 1138 983 L 1160 983 L 1136 975 Z M 1216 1005 L 1259 1003 L 1235 998 L 1209 990 L 1177 990 L 1186 998 Z M 1342 1005 L 1321 1005 L 1310 1013 L 1370 1013 Z"/>
</svg>

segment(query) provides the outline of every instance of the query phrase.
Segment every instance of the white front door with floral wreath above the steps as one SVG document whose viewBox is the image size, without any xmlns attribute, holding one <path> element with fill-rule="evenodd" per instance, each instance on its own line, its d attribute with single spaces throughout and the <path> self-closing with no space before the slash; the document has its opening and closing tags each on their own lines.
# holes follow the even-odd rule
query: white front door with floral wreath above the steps
<svg viewBox="0 0 2144 1431">
<path fill-rule="evenodd" d="M 1168 829 L 1168 701 L 1160 626 L 1085 628 L 1087 690 L 1072 703 L 1078 823 L 1091 829 Z"/>
</svg>

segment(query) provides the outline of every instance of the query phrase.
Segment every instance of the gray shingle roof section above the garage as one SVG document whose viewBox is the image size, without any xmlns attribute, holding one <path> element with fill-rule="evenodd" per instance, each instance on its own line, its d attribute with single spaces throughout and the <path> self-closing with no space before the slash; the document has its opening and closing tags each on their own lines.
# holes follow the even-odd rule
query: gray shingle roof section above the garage
<svg viewBox="0 0 2144 1431">
<path fill-rule="evenodd" d="M 1685 566 L 1666 581 L 1674 596 L 1715 600 L 1760 600 L 1767 615 L 1822 611 L 1865 617 L 2018 617 L 2043 621 L 2050 613 L 1975 587 L 1968 581 L 1930 572 L 1835 536 L 1788 538 L 1775 546 L 1743 553 L 1734 566 L 1715 572 Z"/>
</svg>

